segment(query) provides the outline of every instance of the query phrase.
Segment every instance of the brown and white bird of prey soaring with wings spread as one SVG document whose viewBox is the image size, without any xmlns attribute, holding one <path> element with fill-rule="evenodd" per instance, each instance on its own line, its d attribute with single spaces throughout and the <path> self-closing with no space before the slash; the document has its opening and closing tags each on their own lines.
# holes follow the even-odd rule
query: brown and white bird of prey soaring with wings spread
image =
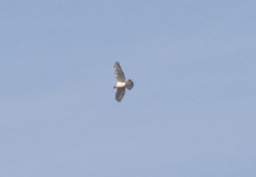
<svg viewBox="0 0 256 177">
<path fill-rule="evenodd" d="M 115 63 L 114 70 L 116 75 L 116 85 L 114 86 L 114 89 L 117 88 L 116 100 L 118 102 L 121 102 L 125 94 L 125 88 L 132 89 L 133 82 L 131 79 L 125 82 L 124 72 L 122 71 L 122 68 L 119 65 L 118 61 L 116 61 Z"/>
</svg>

